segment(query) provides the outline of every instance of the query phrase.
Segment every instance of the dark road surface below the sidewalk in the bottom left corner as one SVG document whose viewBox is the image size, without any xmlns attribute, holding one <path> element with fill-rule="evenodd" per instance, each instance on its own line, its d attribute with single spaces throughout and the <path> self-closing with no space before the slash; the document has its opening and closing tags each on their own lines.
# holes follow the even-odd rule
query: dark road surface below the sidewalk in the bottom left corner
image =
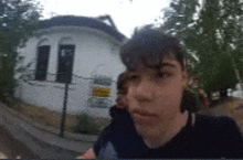
<svg viewBox="0 0 243 160">
<path fill-rule="evenodd" d="M 28 146 L 14 139 L 3 126 L 0 126 L 0 159 L 4 158 L 3 156 L 7 156 L 9 159 L 75 159 L 80 156 L 77 152 L 42 142 L 30 137 L 28 134 L 24 134 L 22 138 L 29 141 Z M 29 147 L 31 147 L 31 149 Z M 35 153 L 32 150 L 35 150 Z"/>
</svg>

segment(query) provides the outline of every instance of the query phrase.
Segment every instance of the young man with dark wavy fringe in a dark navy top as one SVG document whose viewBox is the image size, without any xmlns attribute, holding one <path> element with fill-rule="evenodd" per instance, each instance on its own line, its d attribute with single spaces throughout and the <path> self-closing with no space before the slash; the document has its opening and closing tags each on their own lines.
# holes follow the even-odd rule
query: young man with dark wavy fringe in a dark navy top
<svg viewBox="0 0 243 160">
<path fill-rule="evenodd" d="M 188 74 L 177 39 L 144 28 L 122 46 L 120 57 L 127 104 L 110 108 L 112 124 L 83 158 L 243 158 L 232 119 L 193 117 L 181 105 Z"/>
</svg>

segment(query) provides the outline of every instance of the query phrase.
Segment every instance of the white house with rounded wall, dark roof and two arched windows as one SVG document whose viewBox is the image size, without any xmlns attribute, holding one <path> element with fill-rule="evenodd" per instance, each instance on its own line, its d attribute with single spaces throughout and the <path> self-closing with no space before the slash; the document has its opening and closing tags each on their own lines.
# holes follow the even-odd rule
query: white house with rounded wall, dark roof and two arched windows
<svg viewBox="0 0 243 160">
<path fill-rule="evenodd" d="M 62 111 L 67 81 L 68 114 L 86 111 L 107 117 L 108 108 L 115 104 L 117 76 L 125 70 L 119 58 L 125 39 L 109 17 L 44 20 L 36 36 L 20 50 L 23 58 L 19 65 L 31 64 L 31 78 L 21 81 L 15 96 Z M 101 90 L 106 92 L 105 96 L 97 94 Z"/>
</svg>

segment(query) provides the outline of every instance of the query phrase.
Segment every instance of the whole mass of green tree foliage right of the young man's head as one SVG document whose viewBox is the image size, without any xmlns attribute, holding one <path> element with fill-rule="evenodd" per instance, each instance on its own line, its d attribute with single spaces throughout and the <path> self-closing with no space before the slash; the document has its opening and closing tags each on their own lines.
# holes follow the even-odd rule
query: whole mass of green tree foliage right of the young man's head
<svg viewBox="0 0 243 160">
<path fill-rule="evenodd" d="M 172 0 L 162 28 L 182 41 L 187 58 L 196 55 L 190 75 L 208 94 L 233 88 L 242 73 L 242 9 L 239 0 Z"/>
</svg>

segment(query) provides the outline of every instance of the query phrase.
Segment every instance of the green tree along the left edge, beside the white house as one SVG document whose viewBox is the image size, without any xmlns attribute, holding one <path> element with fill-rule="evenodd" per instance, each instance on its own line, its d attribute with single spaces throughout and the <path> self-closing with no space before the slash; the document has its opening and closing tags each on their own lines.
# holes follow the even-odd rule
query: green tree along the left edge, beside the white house
<svg viewBox="0 0 243 160">
<path fill-rule="evenodd" d="M 39 28 L 41 8 L 31 0 L 0 0 L 0 98 L 13 96 L 18 49 Z"/>
</svg>

